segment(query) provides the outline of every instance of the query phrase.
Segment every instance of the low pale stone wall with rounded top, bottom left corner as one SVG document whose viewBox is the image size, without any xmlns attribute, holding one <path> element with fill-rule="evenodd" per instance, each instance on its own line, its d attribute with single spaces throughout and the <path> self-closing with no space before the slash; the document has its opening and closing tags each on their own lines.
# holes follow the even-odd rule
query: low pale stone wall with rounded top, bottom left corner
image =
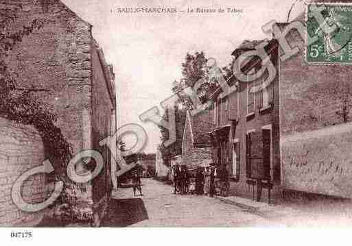
<svg viewBox="0 0 352 246">
<path fill-rule="evenodd" d="M 43 212 L 19 210 L 12 202 L 11 189 L 16 179 L 45 160 L 44 147 L 34 127 L 0 118 L 0 226 L 34 225 Z M 45 175 L 30 177 L 22 186 L 23 199 L 38 203 L 46 199 Z"/>
</svg>

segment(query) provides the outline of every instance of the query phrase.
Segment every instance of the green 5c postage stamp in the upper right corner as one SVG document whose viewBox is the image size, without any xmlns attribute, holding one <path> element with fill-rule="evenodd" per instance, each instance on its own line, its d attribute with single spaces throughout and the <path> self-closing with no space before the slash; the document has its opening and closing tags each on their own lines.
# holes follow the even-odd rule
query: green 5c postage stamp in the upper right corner
<svg viewBox="0 0 352 246">
<path fill-rule="evenodd" d="M 322 23 L 318 23 L 310 14 L 314 5 L 307 5 L 307 62 L 352 64 L 352 5 L 321 4 L 324 7 L 321 11 L 324 17 Z M 327 30 L 331 32 L 326 32 Z M 318 37 L 316 42 L 312 41 L 314 37 Z"/>
</svg>

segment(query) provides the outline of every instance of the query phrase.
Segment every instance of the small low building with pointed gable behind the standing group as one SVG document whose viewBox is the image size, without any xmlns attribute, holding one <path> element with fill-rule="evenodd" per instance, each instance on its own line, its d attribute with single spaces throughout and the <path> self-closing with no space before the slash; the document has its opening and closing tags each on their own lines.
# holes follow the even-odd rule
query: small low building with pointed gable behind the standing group
<svg viewBox="0 0 352 246">
<path fill-rule="evenodd" d="M 191 115 L 187 110 L 182 142 L 182 164 L 189 169 L 211 161 L 211 142 L 208 133 L 211 131 L 211 114 L 204 110 Z"/>
</svg>

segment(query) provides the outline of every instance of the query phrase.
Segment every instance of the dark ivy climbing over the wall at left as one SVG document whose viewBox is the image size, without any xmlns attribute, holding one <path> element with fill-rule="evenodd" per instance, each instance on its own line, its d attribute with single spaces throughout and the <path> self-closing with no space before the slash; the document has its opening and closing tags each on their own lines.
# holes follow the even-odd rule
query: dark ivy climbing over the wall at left
<svg viewBox="0 0 352 246">
<path fill-rule="evenodd" d="M 10 55 L 15 45 L 22 42 L 24 36 L 41 29 L 45 20 L 34 19 L 19 31 L 10 33 L 6 27 L 14 21 L 15 15 L 7 15 L 0 23 L 0 116 L 15 123 L 33 125 L 43 140 L 46 158 L 53 164 L 55 174 L 65 177 L 72 149 L 55 125 L 56 116 L 32 96 L 33 89 L 17 88 L 16 79 L 5 64 L 5 57 Z"/>
</svg>

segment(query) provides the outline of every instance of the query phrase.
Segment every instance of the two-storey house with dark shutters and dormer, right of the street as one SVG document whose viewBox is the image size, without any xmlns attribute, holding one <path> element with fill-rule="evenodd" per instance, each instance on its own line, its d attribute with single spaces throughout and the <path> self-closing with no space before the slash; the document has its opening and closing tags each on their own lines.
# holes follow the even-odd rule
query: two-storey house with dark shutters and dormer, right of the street
<svg viewBox="0 0 352 246">
<path fill-rule="evenodd" d="M 255 49 L 260 41 L 245 40 L 232 55 L 237 58 L 244 51 Z M 270 40 L 265 47 L 272 63 L 277 66 L 278 45 Z M 249 60 L 242 69 L 245 74 L 259 70 L 261 61 Z M 263 83 L 262 77 L 242 82 L 235 76 L 227 83 L 233 92 L 225 95 L 219 87 L 213 100 L 213 128 L 211 130 L 213 161 L 226 169 L 231 195 L 268 200 L 272 188 L 280 184 L 279 155 L 279 76 L 256 93 L 253 86 Z"/>
</svg>

